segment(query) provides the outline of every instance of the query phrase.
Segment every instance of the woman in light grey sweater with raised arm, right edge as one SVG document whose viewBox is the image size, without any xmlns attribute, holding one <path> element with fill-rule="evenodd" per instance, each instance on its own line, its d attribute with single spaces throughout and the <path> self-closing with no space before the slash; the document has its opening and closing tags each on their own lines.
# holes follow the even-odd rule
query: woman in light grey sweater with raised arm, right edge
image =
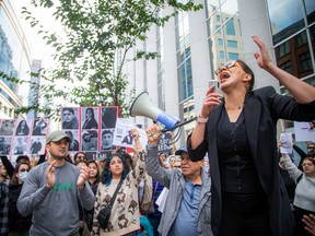
<svg viewBox="0 0 315 236">
<path fill-rule="evenodd" d="M 285 168 L 291 178 L 296 182 L 295 196 L 293 200 L 295 216 L 295 236 L 306 236 L 308 233 L 304 229 L 302 222 L 303 215 L 315 214 L 315 154 L 303 157 L 303 172 L 294 165 L 288 154 L 283 154 Z"/>
</svg>

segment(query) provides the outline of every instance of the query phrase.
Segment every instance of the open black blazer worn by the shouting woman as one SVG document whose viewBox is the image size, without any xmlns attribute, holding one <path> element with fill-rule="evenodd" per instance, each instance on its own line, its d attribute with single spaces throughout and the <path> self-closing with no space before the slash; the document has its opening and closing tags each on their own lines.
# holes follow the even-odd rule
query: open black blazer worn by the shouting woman
<svg viewBox="0 0 315 236">
<path fill-rule="evenodd" d="M 211 226 L 219 234 L 221 223 L 221 180 L 217 151 L 217 125 L 224 101 L 214 106 L 207 122 L 205 141 L 196 149 L 187 145 L 190 158 L 199 161 L 208 152 L 211 175 Z M 290 209 L 285 186 L 278 169 L 277 121 L 288 119 L 312 121 L 315 119 L 315 103 L 298 104 L 290 96 L 277 94 L 275 88 L 266 86 L 247 93 L 245 97 L 245 126 L 249 150 L 260 184 L 268 198 L 270 227 L 275 236 L 293 234 L 294 219 Z"/>
</svg>

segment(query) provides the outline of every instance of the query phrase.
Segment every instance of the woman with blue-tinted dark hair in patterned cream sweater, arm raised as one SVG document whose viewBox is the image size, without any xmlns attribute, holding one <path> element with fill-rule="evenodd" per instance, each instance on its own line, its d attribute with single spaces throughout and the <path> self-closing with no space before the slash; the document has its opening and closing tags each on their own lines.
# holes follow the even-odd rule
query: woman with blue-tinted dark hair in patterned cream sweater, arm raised
<svg viewBox="0 0 315 236">
<path fill-rule="evenodd" d="M 139 132 L 132 129 L 136 144 L 139 143 Z M 137 150 L 138 161 L 128 173 L 128 164 L 120 153 L 108 155 L 104 173 L 96 192 L 92 235 L 138 235 L 140 228 L 138 188 L 144 175 L 144 155 Z M 105 229 L 100 227 L 97 215 L 109 204 L 112 197 L 121 180 L 121 187 L 112 208 L 110 219 Z"/>
</svg>

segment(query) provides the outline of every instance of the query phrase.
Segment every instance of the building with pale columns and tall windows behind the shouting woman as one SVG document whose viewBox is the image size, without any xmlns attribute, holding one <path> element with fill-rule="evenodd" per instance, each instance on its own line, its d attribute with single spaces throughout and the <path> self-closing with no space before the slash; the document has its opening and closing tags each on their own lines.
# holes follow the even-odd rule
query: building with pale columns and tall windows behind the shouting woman
<svg viewBox="0 0 315 236">
<path fill-rule="evenodd" d="M 126 66 L 130 90 L 135 88 L 136 94 L 147 91 L 161 110 L 188 120 L 198 116 L 208 87 L 214 84 L 218 88 L 215 70 L 234 59 L 246 61 L 253 69 L 256 88 L 272 85 L 280 93 L 288 93 L 257 66 L 253 52 L 258 48 L 253 34 L 265 42 L 280 68 L 315 84 L 314 0 L 195 2 L 203 4 L 203 9 L 179 13 L 163 28 L 152 27 L 149 39 L 135 48 L 160 54 L 156 60 Z M 161 14 L 172 11 L 165 9 Z M 151 123 L 144 117 L 136 117 L 136 121 Z M 287 128 L 292 126 L 285 122 Z M 185 143 L 194 127 L 194 122 L 184 126 L 177 146 Z"/>
</svg>

